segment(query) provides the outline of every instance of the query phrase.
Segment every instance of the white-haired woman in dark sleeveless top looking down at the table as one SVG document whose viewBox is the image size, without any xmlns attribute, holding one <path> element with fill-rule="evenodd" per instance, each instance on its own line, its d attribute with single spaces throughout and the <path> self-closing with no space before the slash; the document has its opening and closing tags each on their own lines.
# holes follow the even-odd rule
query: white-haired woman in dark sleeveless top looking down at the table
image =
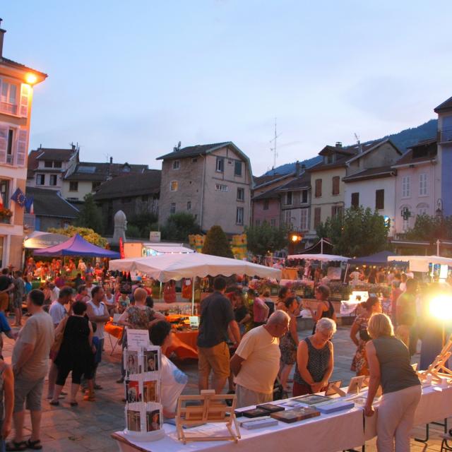
<svg viewBox="0 0 452 452">
<path fill-rule="evenodd" d="M 294 396 L 318 393 L 328 384 L 333 373 L 331 338 L 335 331 L 335 322 L 323 318 L 316 323 L 316 332 L 300 341 L 294 375 Z"/>
</svg>

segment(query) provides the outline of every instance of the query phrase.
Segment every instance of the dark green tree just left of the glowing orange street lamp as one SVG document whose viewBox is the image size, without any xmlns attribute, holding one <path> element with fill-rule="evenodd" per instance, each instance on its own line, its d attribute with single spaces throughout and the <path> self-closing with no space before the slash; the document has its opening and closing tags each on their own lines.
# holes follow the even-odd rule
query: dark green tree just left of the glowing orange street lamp
<svg viewBox="0 0 452 452">
<path fill-rule="evenodd" d="M 266 256 L 287 246 L 289 232 L 287 225 L 272 227 L 267 221 L 259 226 L 246 227 L 248 249 L 258 256 Z"/>
</svg>

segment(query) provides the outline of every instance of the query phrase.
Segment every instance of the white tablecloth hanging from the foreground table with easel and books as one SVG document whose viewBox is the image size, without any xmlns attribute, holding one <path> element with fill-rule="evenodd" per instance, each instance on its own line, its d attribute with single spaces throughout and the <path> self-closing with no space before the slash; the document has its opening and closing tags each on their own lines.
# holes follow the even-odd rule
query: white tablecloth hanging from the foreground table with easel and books
<svg viewBox="0 0 452 452">
<path fill-rule="evenodd" d="M 245 419 L 238 418 L 239 421 Z M 278 425 L 263 429 L 240 429 L 242 439 L 237 444 L 232 441 L 194 441 L 184 445 L 177 441 L 174 426 L 165 424 L 165 432 L 167 436 L 160 441 L 133 443 L 139 448 L 121 441 L 117 441 L 117 444 L 122 452 L 337 452 L 364 444 L 361 408 L 320 415 L 293 424 L 278 422 Z M 123 436 L 121 432 L 117 434 Z"/>
</svg>

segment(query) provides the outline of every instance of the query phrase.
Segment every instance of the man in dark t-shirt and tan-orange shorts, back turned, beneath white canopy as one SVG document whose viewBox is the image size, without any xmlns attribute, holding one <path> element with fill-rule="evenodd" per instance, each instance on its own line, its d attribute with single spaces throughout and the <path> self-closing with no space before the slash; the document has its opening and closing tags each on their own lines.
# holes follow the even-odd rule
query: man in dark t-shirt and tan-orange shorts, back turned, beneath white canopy
<svg viewBox="0 0 452 452">
<path fill-rule="evenodd" d="M 213 389 L 220 394 L 230 375 L 230 353 L 227 330 L 230 329 L 234 346 L 240 342 L 239 326 L 234 311 L 225 297 L 226 280 L 215 278 L 212 295 L 201 302 L 201 320 L 198 335 L 199 390 L 208 389 L 210 370 L 213 371 Z"/>
</svg>

